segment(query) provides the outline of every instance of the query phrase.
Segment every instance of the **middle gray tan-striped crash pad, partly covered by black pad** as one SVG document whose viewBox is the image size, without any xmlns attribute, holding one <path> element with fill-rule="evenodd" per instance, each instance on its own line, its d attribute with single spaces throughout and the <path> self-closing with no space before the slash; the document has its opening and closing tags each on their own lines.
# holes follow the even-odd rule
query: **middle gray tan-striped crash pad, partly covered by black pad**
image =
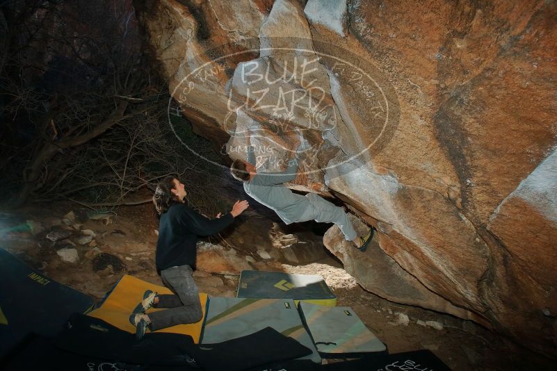
<svg viewBox="0 0 557 371">
<path fill-rule="evenodd" d="M 211 297 L 201 343 L 220 343 L 250 335 L 265 327 L 272 327 L 312 349 L 312 354 L 300 359 L 321 363 L 321 356 L 302 324 L 292 299 Z M 269 347 L 273 347 L 273 344 L 269 344 Z"/>
</svg>

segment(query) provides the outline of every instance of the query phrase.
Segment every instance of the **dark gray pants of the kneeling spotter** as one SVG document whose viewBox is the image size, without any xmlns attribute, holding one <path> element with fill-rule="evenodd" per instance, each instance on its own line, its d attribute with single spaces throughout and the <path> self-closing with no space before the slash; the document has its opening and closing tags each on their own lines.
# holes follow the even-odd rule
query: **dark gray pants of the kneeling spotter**
<svg viewBox="0 0 557 371">
<path fill-rule="evenodd" d="M 179 265 L 161 270 L 161 279 L 175 295 L 158 295 L 156 308 L 164 311 L 147 313 L 151 320 L 149 329 L 156 331 L 175 324 L 199 322 L 203 317 L 199 292 L 189 265 Z"/>
</svg>

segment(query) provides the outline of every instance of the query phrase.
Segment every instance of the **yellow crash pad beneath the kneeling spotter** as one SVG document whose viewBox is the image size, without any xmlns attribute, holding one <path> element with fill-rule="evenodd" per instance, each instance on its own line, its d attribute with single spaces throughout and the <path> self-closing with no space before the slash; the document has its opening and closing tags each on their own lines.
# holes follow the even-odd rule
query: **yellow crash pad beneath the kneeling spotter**
<svg viewBox="0 0 557 371">
<path fill-rule="evenodd" d="M 136 333 L 136 328 L 129 323 L 129 315 L 131 315 L 131 312 L 134 311 L 134 308 L 136 308 L 137 304 L 143 299 L 143 292 L 145 292 L 145 290 L 156 291 L 159 294 L 172 294 L 172 291 L 164 286 L 158 286 L 154 283 L 149 283 L 126 274 L 120 279 L 120 282 L 114 287 L 102 306 L 91 311 L 88 315 L 100 318 L 118 327 L 118 329 Z M 160 329 L 155 332 L 183 333 L 184 335 L 191 336 L 195 344 L 199 343 L 206 314 L 207 294 L 200 294 L 199 297 L 203 311 L 203 318 L 200 322 L 177 324 L 176 326 L 167 327 L 166 329 Z M 150 308 L 147 314 L 163 310 L 163 308 Z"/>
</svg>

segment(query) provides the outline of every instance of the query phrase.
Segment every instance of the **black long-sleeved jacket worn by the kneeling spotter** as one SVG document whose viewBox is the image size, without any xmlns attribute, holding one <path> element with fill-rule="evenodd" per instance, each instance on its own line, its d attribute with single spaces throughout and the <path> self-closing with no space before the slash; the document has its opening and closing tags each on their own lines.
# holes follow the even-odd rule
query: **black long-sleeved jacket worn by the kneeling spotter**
<svg viewBox="0 0 557 371">
<path fill-rule="evenodd" d="M 234 222 L 231 213 L 209 220 L 186 204 L 173 204 L 161 215 L 156 270 L 187 264 L 195 270 L 197 238 L 219 233 Z"/>
</svg>

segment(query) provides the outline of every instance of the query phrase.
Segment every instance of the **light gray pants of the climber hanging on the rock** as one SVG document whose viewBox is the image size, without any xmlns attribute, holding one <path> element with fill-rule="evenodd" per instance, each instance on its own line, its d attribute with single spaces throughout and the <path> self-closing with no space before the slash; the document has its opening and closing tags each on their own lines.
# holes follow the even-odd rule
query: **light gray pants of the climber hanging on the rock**
<svg viewBox="0 0 557 371">
<path fill-rule="evenodd" d="M 357 233 L 348 219 L 348 215 L 346 215 L 342 208 L 335 206 L 315 193 L 307 193 L 305 197 L 309 199 L 309 206 L 296 222 L 315 220 L 319 223 L 334 223 L 339 226 L 347 241 L 351 241 L 357 237 Z"/>
</svg>

